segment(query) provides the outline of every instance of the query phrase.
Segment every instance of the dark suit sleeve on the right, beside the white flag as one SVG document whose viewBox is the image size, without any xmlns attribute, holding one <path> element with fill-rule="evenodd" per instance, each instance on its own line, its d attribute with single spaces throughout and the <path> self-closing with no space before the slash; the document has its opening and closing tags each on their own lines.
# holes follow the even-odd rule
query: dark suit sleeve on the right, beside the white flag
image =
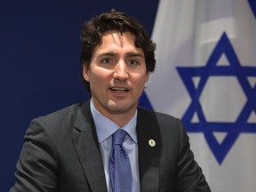
<svg viewBox="0 0 256 192">
<path fill-rule="evenodd" d="M 202 169 L 196 163 L 190 150 L 188 135 L 183 125 L 180 125 L 180 150 L 178 156 L 178 172 L 176 175 L 176 190 L 182 192 L 210 192 Z"/>
</svg>

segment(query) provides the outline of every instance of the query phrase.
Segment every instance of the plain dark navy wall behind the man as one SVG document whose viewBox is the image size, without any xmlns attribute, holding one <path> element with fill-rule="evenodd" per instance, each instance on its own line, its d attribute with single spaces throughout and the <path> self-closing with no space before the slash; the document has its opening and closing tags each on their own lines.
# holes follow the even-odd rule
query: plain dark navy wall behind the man
<svg viewBox="0 0 256 192">
<path fill-rule="evenodd" d="M 84 21 L 115 8 L 140 20 L 150 35 L 157 5 L 158 0 L 0 2 L 1 192 L 14 183 L 29 122 L 89 97 L 79 63 Z"/>
</svg>

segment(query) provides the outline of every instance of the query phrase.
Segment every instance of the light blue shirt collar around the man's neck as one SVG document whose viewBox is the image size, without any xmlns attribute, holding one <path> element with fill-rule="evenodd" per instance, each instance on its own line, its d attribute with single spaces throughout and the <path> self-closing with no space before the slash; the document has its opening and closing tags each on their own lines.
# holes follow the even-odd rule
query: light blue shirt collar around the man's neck
<svg viewBox="0 0 256 192">
<path fill-rule="evenodd" d="M 137 133 L 136 133 L 137 109 L 132 119 L 127 124 L 124 124 L 124 126 L 119 127 L 117 124 L 115 124 L 113 121 L 108 119 L 106 116 L 103 116 L 100 114 L 100 112 L 94 107 L 92 103 L 92 99 L 90 101 L 90 108 L 91 108 L 94 124 L 96 127 L 99 143 L 102 142 L 103 140 L 107 140 L 108 137 L 110 137 L 119 128 L 124 129 L 124 131 L 129 134 L 132 140 L 135 143 L 137 143 Z"/>
</svg>

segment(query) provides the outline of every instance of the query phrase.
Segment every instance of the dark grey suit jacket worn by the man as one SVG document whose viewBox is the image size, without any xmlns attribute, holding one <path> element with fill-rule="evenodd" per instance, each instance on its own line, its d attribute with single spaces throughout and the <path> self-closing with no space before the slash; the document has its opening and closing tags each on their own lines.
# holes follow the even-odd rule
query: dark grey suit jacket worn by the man
<svg viewBox="0 0 256 192">
<path fill-rule="evenodd" d="M 90 103 L 29 124 L 11 192 L 105 192 L 107 185 Z M 138 108 L 140 190 L 210 191 L 180 120 Z M 148 140 L 155 140 L 150 147 Z"/>
</svg>

